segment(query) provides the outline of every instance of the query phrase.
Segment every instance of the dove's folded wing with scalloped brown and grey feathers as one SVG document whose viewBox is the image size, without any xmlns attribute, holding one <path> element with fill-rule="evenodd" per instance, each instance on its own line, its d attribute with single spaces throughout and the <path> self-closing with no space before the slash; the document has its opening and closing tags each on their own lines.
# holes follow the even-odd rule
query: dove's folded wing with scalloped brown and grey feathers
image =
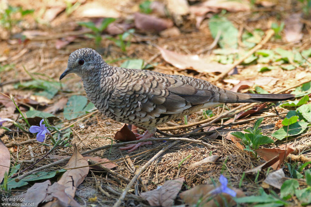
<svg viewBox="0 0 311 207">
<path fill-rule="evenodd" d="M 109 98 L 109 110 L 119 117 L 139 122 L 182 113 L 212 100 L 215 95 L 212 90 L 197 89 L 169 76 L 144 72 L 119 75 L 121 78 Z"/>
</svg>

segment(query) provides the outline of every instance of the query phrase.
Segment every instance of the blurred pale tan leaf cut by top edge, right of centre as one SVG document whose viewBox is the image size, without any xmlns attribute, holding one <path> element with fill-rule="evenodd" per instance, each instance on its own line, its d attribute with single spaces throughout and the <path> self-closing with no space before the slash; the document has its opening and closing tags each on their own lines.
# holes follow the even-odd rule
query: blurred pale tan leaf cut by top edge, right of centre
<svg viewBox="0 0 311 207">
<path fill-rule="evenodd" d="M 249 11 L 250 3 L 245 0 L 241 1 L 230 1 L 230 0 L 208 0 L 200 4 L 202 7 L 211 7 L 217 9 L 225 9 L 227 11 Z"/>
</svg>

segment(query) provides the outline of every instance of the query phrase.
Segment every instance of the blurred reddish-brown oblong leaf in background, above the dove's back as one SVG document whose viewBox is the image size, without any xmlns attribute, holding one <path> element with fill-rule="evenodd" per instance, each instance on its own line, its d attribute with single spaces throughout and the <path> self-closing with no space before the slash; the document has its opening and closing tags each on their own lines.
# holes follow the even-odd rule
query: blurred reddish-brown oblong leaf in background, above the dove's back
<svg viewBox="0 0 311 207">
<path fill-rule="evenodd" d="M 173 21 L 170 19 L 158 18 L 147 14 L 136 12 L 134 14 L 134 23 L 137 29 L 160 32 L 172 27 Z"/>
</svg>

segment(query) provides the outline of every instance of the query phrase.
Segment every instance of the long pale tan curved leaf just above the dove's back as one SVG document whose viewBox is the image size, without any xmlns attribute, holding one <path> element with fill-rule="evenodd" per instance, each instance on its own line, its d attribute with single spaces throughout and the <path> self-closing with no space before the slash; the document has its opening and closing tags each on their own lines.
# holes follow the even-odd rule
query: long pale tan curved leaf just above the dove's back
<svg viewBox="0 0 311 207">
<path fill-rule="evenodd" d="M 223 72 L 231 67 L 230 64 L 223 65 L 216 62 L 211 63 L 206 58 L 198 55 L 182 55 L 161 47 L 158 47 L 158 49 L 165 61 L 182 70 L 193 69 L 200 73 L 213 73 Z"/>
</svg>

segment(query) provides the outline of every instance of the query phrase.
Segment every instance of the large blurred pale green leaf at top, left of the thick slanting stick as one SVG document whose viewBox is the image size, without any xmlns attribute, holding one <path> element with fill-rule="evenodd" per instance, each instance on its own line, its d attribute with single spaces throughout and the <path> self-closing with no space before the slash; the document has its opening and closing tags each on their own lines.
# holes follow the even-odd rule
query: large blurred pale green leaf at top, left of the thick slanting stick
<svg viewBox="0 0 311 207">
<path fill-rule="evenodd" d="M 220 40 L 218 44 L 221 48 L 237 48 L 238 47 L 238 29 L 225 17 L 213 16 L 209 20 L 209 28 L 212 37 L 215 39 L 218 31 Z"/>
</svg>

